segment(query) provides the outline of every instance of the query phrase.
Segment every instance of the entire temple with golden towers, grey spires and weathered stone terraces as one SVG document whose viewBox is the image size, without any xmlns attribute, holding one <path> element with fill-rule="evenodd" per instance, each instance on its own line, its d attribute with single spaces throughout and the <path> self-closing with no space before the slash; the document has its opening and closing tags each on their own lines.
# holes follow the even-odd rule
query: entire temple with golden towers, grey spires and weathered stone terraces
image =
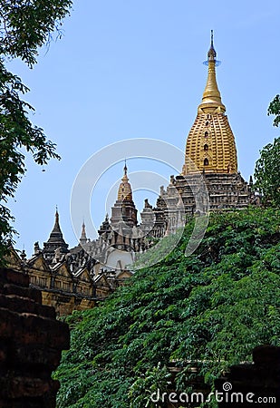
<svg viewBox="0 0 280 408">
<path fill-rule="evenodd" d="M 170 176 L 169 186 L 160 187 L 155 207 L 145 199 L 140 222 L 125 161 L 111 218 L 106 215 L 97 239 L 87 238 L 82 222 L 80 242 L 68 248 L 56 209 L 53 230 L 43 248 L 35 243 L 30 259 L 13 252 L 10 264 L 30 275 L 32 286 L 43 292 L 43 303 L 55 306 L 58 314 L 92 307 L 108 296 L 131 276 L 128 266 L 135 254 L 176 232 L 189 217 L 256 203 L 252 180 L 247 183 L 237 168 L 235 137 L 217 87 L 216 56 L 211 32 L 207 83 L 188 132 L 182 171 Z"/>
</svg>

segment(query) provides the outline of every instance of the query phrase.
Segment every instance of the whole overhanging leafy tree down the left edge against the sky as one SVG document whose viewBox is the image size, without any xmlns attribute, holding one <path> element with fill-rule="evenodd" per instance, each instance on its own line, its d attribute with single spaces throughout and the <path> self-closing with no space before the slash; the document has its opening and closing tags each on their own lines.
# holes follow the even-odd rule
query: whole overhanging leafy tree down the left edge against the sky
<svg viewBox="0 0 280 408">
<path fill-rule="evenodd" d="M 52 33 L 61 36 L 71 5 L 72 0 L 0 0 L 0 262 L 15 232 L 6 203 L 24 175 L 24 150 L 40 165 L 59 159 L 55 144 L 29 120 L 34 108 L 21 99 L 29 89 L 6 70 L 5 61 L 17 57 L 32 68 Z"/>
</svg>

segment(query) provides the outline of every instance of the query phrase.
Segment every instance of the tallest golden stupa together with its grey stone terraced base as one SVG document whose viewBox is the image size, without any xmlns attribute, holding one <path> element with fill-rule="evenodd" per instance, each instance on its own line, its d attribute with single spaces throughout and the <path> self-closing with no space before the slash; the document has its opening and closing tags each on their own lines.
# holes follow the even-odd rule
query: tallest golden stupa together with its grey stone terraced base
<svg viewBox="0 0 280 408">
<path fill-rule="evenodd" d="M 196 120 L 188 132 L 182 172 L 170 176 L 167 189 L 160 189 L 155 209 L 158 224 L 163 225 L 161 220 L 168 219 L 172 205 L 174 209 L 177 205 L 175 189 L 183 201 L 187 217 L 220 209 L 244 209 L 255 202 L 252 183 L 248 184 L 237 170 L 235 137 L 217 87 L 216 66 L 219 62 L 216 56 L 211 31 L 206 87 Z M 175 210 L 173 212 L 173 224 L 180 225 L 182 220 L 176 219 Z"/>
</svg>

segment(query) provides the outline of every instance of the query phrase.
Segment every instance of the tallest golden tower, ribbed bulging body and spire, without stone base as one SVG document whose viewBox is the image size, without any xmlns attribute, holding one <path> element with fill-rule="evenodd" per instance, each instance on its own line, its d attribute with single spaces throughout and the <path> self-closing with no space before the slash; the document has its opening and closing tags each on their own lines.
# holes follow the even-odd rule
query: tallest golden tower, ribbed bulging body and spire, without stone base
<svg viewBox="0 0 280 408">
<path fill-rule="evenodd" d="M 216 51 L 208 51 L 208 80 L 198 106 L 198 115 L 187 139 L 185 164 L 182 174 L 237 173 L 237 148 L 234 134 L 227 120 L 216 80 Z"/>
</svg>

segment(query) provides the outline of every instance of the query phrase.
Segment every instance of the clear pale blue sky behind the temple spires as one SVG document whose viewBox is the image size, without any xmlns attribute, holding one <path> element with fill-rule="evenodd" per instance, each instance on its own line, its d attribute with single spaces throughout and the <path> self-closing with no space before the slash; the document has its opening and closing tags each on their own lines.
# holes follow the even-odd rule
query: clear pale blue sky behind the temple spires
<svg viewBox="0 0 280 408">
<path fill-rule="evenodd" d="M 36 109 L 32 120 L 57 143 L 63 158 L 42 171 L 27 157 L 28 171 L 10 203 L 20 233 L 15 247 L 31 256 L 35 241 L 43 245 L 56 205 L 65 240 L 76 244 L 72 184 L 96 151 L 134 138 L 166 141 L 184 151 L 207 79 L 202 62 L 211 29 L 222 61 L 217 83 L 236 136 L 238 168 L 248 180 L 259 150 L 279 135 L 266 115 L 280 92 L 279 20 L 279 0 L 74 1 L 63 38 L 41 50 L 33 70 L 21 62 L 9 64 L 31 89 L 25 100 Z M 167 178 L 172 173 L 151 160 L 128 160 L 128 166 L 162 171 Z M 122 162 L 112 166 L 92 196 L 97 226 L 110 208 L 107 193 L 118 185 L 122 168 Z M 135 193 L 139 209 L 144 196 L 156 199 L 155 193 L 143 194 Z"/>
</svg>

